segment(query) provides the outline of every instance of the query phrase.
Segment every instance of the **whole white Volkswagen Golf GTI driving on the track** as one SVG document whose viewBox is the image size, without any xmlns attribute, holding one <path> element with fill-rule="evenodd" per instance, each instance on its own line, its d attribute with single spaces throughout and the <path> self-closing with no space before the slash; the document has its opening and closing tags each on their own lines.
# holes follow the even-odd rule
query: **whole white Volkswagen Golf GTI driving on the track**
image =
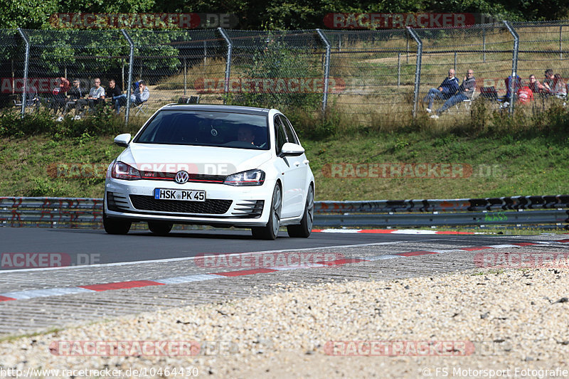
<svg viewBox="0 0 569 379">
<path fill-rule="evenodd" d="M 251 228 L 267 240 L 281 226 L 291 237 L 312 231 L 314 175 L 278 110 L 166 105 L 115 143 L 126 149 L 107 170 L 107 233 L 137 221 L 156 235 L 174 223 Z"/>
</svg>

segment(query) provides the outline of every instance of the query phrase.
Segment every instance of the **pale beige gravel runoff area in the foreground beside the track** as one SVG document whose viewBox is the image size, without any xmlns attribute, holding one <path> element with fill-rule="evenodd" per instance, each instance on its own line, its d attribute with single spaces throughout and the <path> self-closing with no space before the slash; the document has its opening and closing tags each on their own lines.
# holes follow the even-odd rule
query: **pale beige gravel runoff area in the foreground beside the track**
<svg viewBox="0 0 569 379">
<path fill-rule="evenodd" d="M 569 377 L 569 269 L 274 289 L 5 340 L 0 376 L 42 368 L 76 370 L 46 377 Z M 132 356 L 97 355 L 109 351 Z"/>
</svg>

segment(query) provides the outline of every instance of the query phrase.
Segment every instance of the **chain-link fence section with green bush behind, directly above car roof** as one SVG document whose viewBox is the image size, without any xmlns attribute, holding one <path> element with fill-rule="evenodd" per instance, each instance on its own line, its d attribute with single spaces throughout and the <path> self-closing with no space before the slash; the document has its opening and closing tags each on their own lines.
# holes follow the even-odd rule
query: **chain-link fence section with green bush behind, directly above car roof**
<svg viewBox="0 0 569 379">
<path fill-rule="evenodd" d="M 321 107 L 324 47 L 316 31 L 225 31 L 232 48 L 228 102 Z"/>
</svg>

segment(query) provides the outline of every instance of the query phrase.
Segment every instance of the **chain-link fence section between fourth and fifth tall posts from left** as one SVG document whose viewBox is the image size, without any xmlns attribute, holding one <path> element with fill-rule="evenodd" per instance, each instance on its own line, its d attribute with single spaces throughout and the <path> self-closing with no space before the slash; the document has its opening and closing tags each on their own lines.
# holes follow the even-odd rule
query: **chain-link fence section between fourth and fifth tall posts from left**
<svg viewBox="0 0 569 379">
<path fill-rule="evenodd" d="M 356 123 L 411 117 L 418 45 L 405 29 L 325 31 L 330 73 L 344 87 L 330 105 Z"/>
</svg>

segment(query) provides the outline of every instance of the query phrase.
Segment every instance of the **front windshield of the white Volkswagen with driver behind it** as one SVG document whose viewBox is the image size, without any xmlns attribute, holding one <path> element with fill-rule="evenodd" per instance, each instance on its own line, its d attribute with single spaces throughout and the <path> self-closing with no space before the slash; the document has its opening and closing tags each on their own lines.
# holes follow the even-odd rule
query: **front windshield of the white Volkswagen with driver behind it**
<svg viewBox="0 0 569 379">
<path fill-rule="evenodd" d="M 264 115 L 163 110 L 151 119 L 134 142 L 268 150 L 268 135 Z"/>
</svg>

